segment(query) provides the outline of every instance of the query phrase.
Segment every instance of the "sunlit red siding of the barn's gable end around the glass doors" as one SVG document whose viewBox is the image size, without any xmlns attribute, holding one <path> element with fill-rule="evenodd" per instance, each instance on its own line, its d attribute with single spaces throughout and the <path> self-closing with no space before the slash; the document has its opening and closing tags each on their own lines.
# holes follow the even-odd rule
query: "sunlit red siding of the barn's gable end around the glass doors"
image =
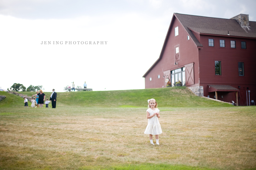
<svg viewBox="0 0 256 170">
<path fill-rule="evenodd" d="M 175 36 L 175 27 L 179 27 L 179 35 Z M 158 63 L 147 73 L 145 76 L 145 88 L 161 88 L 164 86 L 163 71 L 174 70 L 182 68 L 186 64 L 194 62 L 194 78 L 195 83 L 199 83 L 199 65 L 198 65 L 198 48 L 190 38 L 187 39 L 188 33 L 182 26 L 182 24 L 174 17 L 169 35 L 166 39 L 165 47 L 162 51 L 162 57 Z M 178 64 L 174 65 L 175 62 L 175 48 L 180 47 L 180 60 Z M 160 74 L 160 79 L 157 79 L 157 75 Z M 152 77 L 152 81 L 149 78 Z"/>
</svg>

